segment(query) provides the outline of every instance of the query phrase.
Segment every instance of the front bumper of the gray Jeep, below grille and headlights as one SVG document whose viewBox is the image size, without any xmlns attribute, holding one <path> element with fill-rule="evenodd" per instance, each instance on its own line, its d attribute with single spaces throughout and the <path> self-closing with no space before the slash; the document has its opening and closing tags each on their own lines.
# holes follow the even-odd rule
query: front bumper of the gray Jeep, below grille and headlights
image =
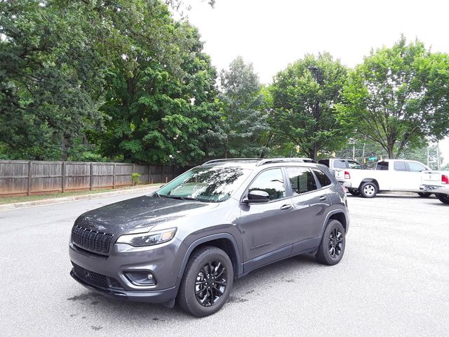
<svg viewBox="0 0 449 337">
<path fill-rule="evenodd" d="M 71 242 L 69 256 L 74 265 L 70 275 L 86 288 L 105 296 L 165 303 L 177 295 L 181 264 L 177 257 L 183 256 L 178 239 L 139 248 L 114 244 L 109 256 L 85 251 Z M 126 272 L 151 272 L 156 284 L 133 284 Z"/>
</svg>

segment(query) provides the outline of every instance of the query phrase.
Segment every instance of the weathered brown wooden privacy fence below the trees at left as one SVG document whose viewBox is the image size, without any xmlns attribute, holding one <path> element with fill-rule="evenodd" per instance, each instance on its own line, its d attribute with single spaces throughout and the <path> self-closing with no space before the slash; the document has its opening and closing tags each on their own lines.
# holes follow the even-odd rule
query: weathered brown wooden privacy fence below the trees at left
<svg viewBox="0 0 449 337">
<path fill-rule="evenodd" d="M 166 183 L 185 171 L 165 165 L 0 160 L 0 197 L 129 186 L 133 173 L 140 173 L 140 183 Z"/>
</svg>

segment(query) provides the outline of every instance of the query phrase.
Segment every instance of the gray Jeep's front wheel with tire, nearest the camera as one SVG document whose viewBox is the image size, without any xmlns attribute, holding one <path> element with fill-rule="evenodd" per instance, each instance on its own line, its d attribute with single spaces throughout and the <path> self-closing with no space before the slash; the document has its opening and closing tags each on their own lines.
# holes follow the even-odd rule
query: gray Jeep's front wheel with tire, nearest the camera
<svg viewBox="0 0 449 337">
<path fill-rule="evenodd" d="M 234 270 L 227 253 L 214 246 L 201 247 L 189 258 L 178 303 L 190 315 L 213 315 L 225 305 L 233 282 Z"/>
</svg>

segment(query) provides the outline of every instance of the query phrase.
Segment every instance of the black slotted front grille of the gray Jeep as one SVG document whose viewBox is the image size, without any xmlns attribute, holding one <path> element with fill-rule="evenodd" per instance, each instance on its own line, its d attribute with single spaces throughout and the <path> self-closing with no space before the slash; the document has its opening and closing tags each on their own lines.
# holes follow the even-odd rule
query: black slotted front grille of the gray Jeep
<svg viewBox="0 0 449 337">
<path fill-rule="evenodd" d="M 111 244 L 112 234 L 95 232 L 81 226 L 74 226 L 72 229 L 72 242 L 76 246 L 100 253 L 108 253 Z"/>
</svg>

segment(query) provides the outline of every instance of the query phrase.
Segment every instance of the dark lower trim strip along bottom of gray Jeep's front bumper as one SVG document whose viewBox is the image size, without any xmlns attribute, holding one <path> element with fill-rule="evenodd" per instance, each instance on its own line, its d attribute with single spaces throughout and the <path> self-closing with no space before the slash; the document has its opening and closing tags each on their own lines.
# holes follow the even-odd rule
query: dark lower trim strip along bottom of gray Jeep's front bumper
<svg viewBox="0 0 449 337">
<path fill-rule="evenodd" d="M 176 298 L 177 295 L 176 286 L 174 286 L 173 288 L 157 291 L 115 290 L 100 288 L 98 286 L 93 286 L 93 284 L 88 284 L 85 280 L 77 277 L 76 273 L 73 270 L 70 271 L 70 276 L 72 276 L 77 282 L 79 282 L 82 286 L 85 286 L 87 289 L 110 298 L 121 298 L 123 300 L 131 300 L 135 302 L 166 303 Z"/>
</svg>

